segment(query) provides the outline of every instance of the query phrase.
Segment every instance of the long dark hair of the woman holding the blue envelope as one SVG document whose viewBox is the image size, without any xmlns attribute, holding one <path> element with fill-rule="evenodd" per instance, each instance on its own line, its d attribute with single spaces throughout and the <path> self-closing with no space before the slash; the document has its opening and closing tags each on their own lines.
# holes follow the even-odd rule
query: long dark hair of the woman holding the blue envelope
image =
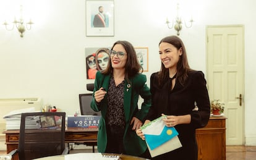
<svg viewBox="0 0 256 160">
<path fill-rule="evenodd" d="M 192 70 L 190 69 L 189 62 L 187 61 L 187 53 L 186 53 L 186 48 L 184 46 L 184 43 L 177 36 L 166 36 L 160 41 L 159 45 L 163 42 L 173 44 L 173 46 L 177 49 L 182 48 L 182 54 L 179 57 L 179 61 L 177 62 L 177 78 L 176 79 L 179 81 L 179 83 L 181 83 L 181 85 L 184 85 L 185 81 L 187 80 L 187 75 L 189 73 L 189 70 Z M 158 75 L 159 75 L 159 80 L 158 80 L 159 85 L 163 84 L 163 81 L 169 78 L 169 69 L 166 69 L 163 63 L 161 63 L 161 70 L 158 72 Z"/>
</svg>

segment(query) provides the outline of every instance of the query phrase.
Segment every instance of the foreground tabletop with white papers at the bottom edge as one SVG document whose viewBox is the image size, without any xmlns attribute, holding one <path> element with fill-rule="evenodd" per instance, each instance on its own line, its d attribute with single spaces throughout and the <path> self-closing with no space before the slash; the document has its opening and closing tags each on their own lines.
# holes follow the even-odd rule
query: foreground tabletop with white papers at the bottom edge
<svg viewBox="0 0 256 160">
<path fill-rule="evenodd" d="M 136 156 L 130 156 L 125 154 L 110 154 L 110 153 L 76 153 L 76 154 L 67 154 L 67 155 L 59 155 L 59 156 L 49 156 L 45 158 L 38 158 L 34 160 L 65 160 L 65 159 L 88 159 L 95 160 L 102 158 L 103 155 L 111 155 L 111 156 L 119 156 L 122 160 L 147 160 L 145 158 L 140 158 Z"/>
</svg>

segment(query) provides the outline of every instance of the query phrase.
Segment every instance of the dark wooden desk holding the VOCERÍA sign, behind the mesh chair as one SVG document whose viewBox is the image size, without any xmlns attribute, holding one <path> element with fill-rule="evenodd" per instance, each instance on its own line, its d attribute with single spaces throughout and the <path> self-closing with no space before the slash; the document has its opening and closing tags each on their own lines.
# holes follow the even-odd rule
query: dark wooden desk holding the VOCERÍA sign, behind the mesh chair
<svg viewBox="0 0 256 160">
<path fill-rule="evenodd" d="M 18 148 L 20 130 L 6 130 L 6 151 L 11 152 Z M 68 128 L 65 131 L 65 143 L 85 143 L 90 145 L 97 144 L 98 128 Z M 18 155 L 15 155 L 13 160 L 18 160 Z"/>
</svg>

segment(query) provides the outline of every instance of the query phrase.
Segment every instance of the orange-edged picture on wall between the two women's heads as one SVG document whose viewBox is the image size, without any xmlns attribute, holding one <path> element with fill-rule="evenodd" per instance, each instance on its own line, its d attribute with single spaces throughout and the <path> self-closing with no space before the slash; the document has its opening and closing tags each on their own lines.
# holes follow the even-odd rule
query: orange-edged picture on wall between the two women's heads
<svg viewBox="0 0 256 160">
<path fill-rule="evenodd" d="M 148 48 L 147 47 L 135 47 L 138 61 L 143 67 L 143 72 L 148 72 Z"/>
</svg>

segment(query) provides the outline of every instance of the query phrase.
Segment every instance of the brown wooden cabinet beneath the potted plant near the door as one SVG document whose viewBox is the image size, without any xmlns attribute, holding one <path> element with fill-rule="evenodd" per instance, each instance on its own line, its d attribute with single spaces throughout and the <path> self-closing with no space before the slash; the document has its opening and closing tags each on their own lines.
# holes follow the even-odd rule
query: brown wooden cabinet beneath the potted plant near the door
<svg viewBox="0 0 256 160">
<path fill-rule="evenodd" d="M 198 160 L 226 159 L 226 117 L 210 117 L 204 128 L 196 130 Z"/>
</svg>

